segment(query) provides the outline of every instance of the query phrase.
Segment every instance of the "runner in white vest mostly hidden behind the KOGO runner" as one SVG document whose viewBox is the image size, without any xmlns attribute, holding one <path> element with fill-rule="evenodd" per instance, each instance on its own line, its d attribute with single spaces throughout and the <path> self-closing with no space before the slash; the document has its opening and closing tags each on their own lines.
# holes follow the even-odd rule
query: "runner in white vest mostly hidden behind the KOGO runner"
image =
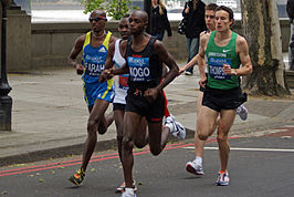
<svg viewBox="0 0 294 197">
<path fill-rule="evenodd" d="M 128 37 L 130 35 L 130 31 L 128 28 L 128 17 L 129 17 L 128 14 L 124 15 L 118 23 L 118 32 L 123 40 L 127 40 Z M 116 65 L 116 68 L 120 68 L 125 64 L 126 61 L 123 58 L 125 55 L 125 51 L 120 50 L 122 45 L 119 45 L 119 43 L 122 43 L 123 40 L 118 39 L 109 45 L 107 60 L 105 64 L 106 69 L 109 69 L 109 66 L 112 66 L 113 64 Z M 123 121 L 124 121 L 125 106 L 126 106 L 125 97 L 127 95 L 127 90 L 128 90 L 127 81 L 128 81 L 128 74 L 119 75 L 118 83 L 116 83 L 116 86 L 115 86 L 115 97 L 113 102 L 114 118 L 115 118 L 115 125 L 116 125 L 116 131 L 117 131 L 117 147 L 118 147 L 118 154 L 119 154 L 120 160 L 122 160 L 122 142 L 123 142 Z M 165 96 L 165 100 L 166 100 L 166 96 Z M 167 100 L 166 100 L 165 124 L 167 123 L 176 124 L 178 128 L 177 129 L 178 133 L 172 133 L 172 135 L 175 137 L 180 138 L 181 136 L 179 134 L 182 133 L 180 132 L 180 129 L 185 127 L 180 123 L 176 122 L 175 117 L 170 115 L 167 108 Z M 144 147 L 146 144 L 148 144 L 148 132 L 146 132 L 146 120 L 143 118 L 139 125 L 141 126 L 141 128 L 138 131 L 141 131 L 144 133 L 135 137 L 136 139 L 135 145 L 137 147 Z M 125 183 L 123 183 L 116 190 L 124 191 L 124 189 L 125 189 Z M 135 182 L 134 182 L 134 190 L 137 190 Z"/>
</svg>

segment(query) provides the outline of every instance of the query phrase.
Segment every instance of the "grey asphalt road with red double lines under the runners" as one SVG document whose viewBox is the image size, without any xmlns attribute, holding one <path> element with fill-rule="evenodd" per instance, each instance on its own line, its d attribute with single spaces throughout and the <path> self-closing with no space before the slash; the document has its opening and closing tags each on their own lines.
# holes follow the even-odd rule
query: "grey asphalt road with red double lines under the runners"
<svg viewBox="0 0 294 197">
<path fill-rule="evenodd" d="M 273 133 L 272 131 L 276 132 Z M 229 139 L 230 186 L 214 186 L 219 167 L 216 138 L 204 151 L 204 176 L 186 173 L 193 158 L 192 139 L 168 144 L 154 157 L 148 149 L 135 149 L 134 177 L 139 197 L 182 196 L 293 196 L 294 125 L 264 131 L 261 136 Z M 266 134 L 271 133 L 271 134 Z M 7 196 L 119 196 L 115 188 L 123 180 L 115 149 L 95 153 L 83 186 L 67 177 L 78 168 L 81 156 L 43 160 L 0 168 L 0 195 Z"/>
</svg>

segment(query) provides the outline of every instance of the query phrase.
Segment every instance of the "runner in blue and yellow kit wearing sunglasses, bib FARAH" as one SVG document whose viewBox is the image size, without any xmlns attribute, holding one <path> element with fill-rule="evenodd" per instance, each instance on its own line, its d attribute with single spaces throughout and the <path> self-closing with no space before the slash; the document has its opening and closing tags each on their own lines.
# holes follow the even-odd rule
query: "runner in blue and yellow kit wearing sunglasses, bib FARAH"
<svg viewBox="0 0 294 197">
<path fill-rule="evenodd" d="M 103 10 L 94 10 L 90 15 L 90 24 L 92 31 L 81 35 L 69 56 L 69 63 L 72 64 L 77 74 L 83 74 L 84 97 L 88 105 L 87 121 L 87 139 L 83 154 L 82 166 L 76 173 L 70 177 L 70 182 L 80 186 L 85 177 L 88 160 L 94 152 L 97 142 L 97 131 L 105 134 L 107 127 L 112 124 L 114 117 L 111 113 L 104 116 L 108 104 L 113 101 L 114 90 L 113 80 L 98 82 L 101 72 L 104 70 L 108 44 L 114 42 L 114 37 L 105 31 L 106 13 Z M 76 63 L 76 58 L 82 52 L 82 64 Z"/>
</svg>

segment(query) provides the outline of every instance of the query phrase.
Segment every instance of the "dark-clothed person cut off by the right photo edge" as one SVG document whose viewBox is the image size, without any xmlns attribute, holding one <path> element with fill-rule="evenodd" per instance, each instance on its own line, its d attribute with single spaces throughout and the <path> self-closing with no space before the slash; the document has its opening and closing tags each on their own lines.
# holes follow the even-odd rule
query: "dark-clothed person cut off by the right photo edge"
<svg viewBox="0 0 294 197">
<path fill-rule="evenodd" d="M 291 23 L 291 34 L 290 34 L 290 44 L 288 44 L 288 64 L 290 70 L 294 71 L 294 0 L 287 0 L 286 4 L 287 15 Z"/>
</svg>

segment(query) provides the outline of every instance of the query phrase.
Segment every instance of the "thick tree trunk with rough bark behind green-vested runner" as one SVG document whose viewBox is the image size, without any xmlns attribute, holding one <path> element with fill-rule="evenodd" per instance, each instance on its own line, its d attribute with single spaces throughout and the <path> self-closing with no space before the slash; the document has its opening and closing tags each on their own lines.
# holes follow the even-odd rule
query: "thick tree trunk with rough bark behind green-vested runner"
<svg viewBox="0 0 294 197">
<path fill-rule="evenodd" d="M 241 0 L 242 28 L 248 39 L 253 73 L 243 79 L 252 95 L 291 94 L 285 81 L 276 0 Z"/>
</svg>

